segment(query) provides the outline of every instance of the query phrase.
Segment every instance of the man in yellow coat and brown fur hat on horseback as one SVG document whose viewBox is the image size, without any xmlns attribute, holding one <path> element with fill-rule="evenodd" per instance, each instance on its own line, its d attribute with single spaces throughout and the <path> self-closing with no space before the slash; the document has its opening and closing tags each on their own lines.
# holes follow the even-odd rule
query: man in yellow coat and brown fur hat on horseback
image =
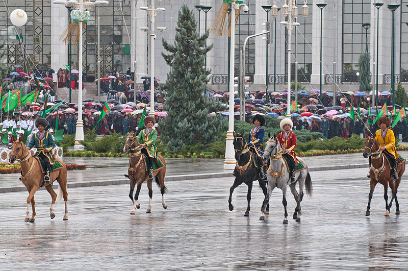
<svg viewBox="0 0 408 271">
<path fill-rule="evenodd" d="M 394 179 L 398 179 L 397 175 L 397 160 L 398 154 L 395 148 L 395 136 L 391 129 L 388 129 L 391 125 L 391 120 L 386 117 L 378 118 L 377 122 L 379 130 L 375 132 L 375 140 L 379 143 L 379 150 L 388 158 L 390 166 L 392 168 L 391 174 Z M 371 157 L 370 157 L 371 158 Z M 371 164 L 371 160 L 369 161 Z"/>
</svg>

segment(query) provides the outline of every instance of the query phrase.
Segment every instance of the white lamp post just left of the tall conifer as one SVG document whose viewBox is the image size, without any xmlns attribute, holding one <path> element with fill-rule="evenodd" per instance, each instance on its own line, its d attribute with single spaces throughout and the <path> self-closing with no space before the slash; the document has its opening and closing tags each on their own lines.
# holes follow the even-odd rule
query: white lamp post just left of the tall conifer
<svg viewBox="0 0 408 271">
<path fill-rule="evenodd" d="M 150 7 L 141 7 L 141 10 L 145 10 L 148 15 L 150 15 L 150 44 L 151 44 L 151 51 L 150 51 L 150 116 L 155 115 L 155 18 L 156 15 L 159 14 L 160 11 L 165 11 L 165 8 L 156 8 L 155 1 L 151 1 Z M 166 27 L 158 27 L 158 31 L 166 30 Z"/>
</svg>

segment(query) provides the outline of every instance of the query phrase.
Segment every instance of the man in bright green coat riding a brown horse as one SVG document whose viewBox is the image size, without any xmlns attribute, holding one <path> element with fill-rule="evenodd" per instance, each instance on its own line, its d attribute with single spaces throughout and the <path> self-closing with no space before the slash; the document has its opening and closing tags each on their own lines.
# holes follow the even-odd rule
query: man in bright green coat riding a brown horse
<svg viewBox="0 0 408 271">
<path fill-rule="evenodd" d="M 142 154 L 146 155 L 147 168 L 149 169 L 149 179 L 153 179 L 153 158 L 157 159 L 156 153 L 156 139 L 157 131 L 153 128 L 155 126 L 155 117 L 147 116 L 143 119 L 143 124 L 146 129 L 142 130 L 136 137 L 137 141 L 143 147 Z"/>
</svg>

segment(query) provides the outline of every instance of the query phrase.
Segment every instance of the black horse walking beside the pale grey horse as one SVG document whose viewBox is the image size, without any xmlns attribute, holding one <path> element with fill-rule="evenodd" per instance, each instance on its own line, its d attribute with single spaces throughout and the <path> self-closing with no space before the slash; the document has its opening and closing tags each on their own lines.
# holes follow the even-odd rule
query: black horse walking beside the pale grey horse
<svg viewBox="0 0 408 271">
<path fill-rule="evenodd" d="M 234 169 L 234 184 L 230 188 L 230 198 L 228 199 L 228 207 L 230 211 L 234 210 L 234 206 L 231 204 L 232 195 L 234 189 L 237 188 L 240 184 L 245 183 L 248 186 L 248 193 L 246 194 L 246 200 L 248 201 L 248 207 L 245 211 L 245 216 L 249 215 L 249 203 L 251 201 L 251 191 L 252 191 L 252 182 L 258 180 L 259 186 L 261 186 L 262 191 L 266 194 L 266 181 L 262 181 L 259 177 L 260 167 L 255 166 L 254 160 L 257 159 L 256 154 L 252 154 L 248 151 L 248 146 L 245 139 L 240 134 L 234 133 L 234 149 L 235 149 L 235 160 L 237 160 L 237 165 Z M 264 203 L 262 204 L 264 206 Z M 262 207 L 261 207 L 262 208 Z M 266 206 L 267 213 L 269 214 L 269 205 Z"/>
</svg>

